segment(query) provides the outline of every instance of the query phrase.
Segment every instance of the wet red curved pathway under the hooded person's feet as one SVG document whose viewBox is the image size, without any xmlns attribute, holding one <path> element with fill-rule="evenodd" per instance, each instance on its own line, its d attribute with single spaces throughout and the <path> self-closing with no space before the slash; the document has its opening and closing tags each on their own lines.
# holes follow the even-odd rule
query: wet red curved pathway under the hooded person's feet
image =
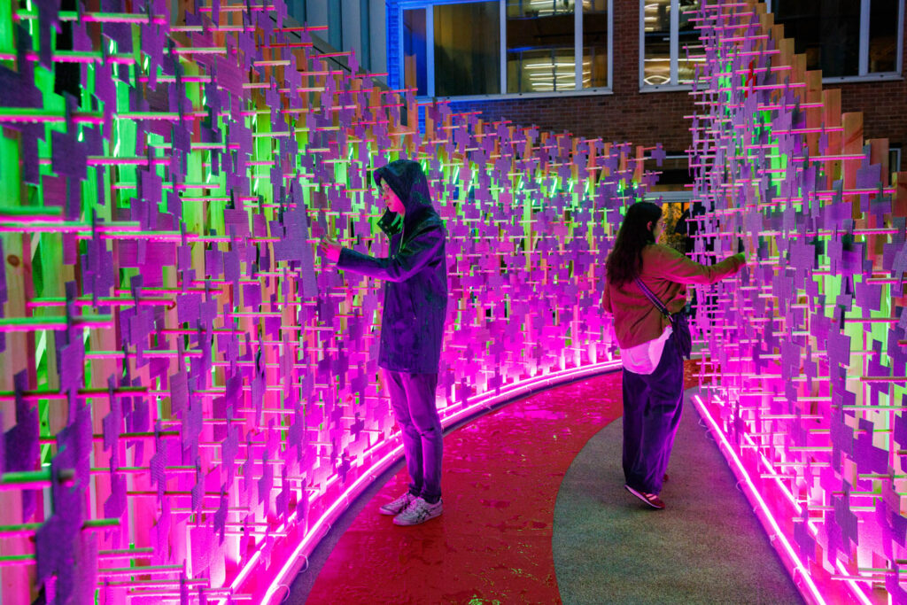
<svg viewBox="0 0 907 605">
<path fill-rule="evenodd" d="M 688 371 L 692 368 L 688 368 Z M 444 514 L 397 527 L 366 504 L 318 574 L 307 603 L 559 603 L 551 528 L 564 473 L 622 412 L 620 373 L 505 405 L 444 437 Z"/>
</svg>

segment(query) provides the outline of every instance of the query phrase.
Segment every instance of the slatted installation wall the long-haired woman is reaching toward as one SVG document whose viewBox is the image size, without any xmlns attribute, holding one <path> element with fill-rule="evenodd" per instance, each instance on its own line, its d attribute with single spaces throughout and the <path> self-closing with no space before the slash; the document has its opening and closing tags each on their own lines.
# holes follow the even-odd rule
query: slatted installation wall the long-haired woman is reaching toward
<svg viewBox="0 0 907 605">
<path fill-rule="evenodd" d="M 812 602 L 907 602 L 907 173 L 753 0 L 712 0 L 692 93 L 706 411 Z"/>
</svg>

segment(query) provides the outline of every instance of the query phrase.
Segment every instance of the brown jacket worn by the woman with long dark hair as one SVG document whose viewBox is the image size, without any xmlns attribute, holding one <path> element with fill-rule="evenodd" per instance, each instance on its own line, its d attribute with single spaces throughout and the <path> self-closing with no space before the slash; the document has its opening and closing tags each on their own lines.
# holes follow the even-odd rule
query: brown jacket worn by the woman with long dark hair
<svg viewBox="0 0 907 605">
<path fill-rule="evenodd" d="M 734 275 L 745 264 L 744 255 L 735 254 L 717 265 L 706 267 L 673 248 L 652 244 L 642 249 L 642 271 L 639 277 L 665 303 L 668 311 L 677 313 L 687 305 L 686 284 L 714 284 Z M 661 336 L 665 327 L 668 327 L 668 319 L 661 315 L 632 281 L 622 288 L 605 284 L 601 306 L 614 316 L 614 330 L 620 348 L 649 342 Z"/>
</svg>

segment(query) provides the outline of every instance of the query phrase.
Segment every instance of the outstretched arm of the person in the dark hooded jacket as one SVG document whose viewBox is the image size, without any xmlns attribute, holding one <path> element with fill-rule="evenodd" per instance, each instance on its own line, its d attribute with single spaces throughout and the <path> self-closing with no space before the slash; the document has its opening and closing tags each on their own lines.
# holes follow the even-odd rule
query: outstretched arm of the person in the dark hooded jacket
<svg viewBox="0 0 907 605">
<path fill-rule="evenodd" d="M 361 273 L 370 278 L 405 281 L 431 262 L 437 250 L 443 245 L 444 228 L 437 224 L 429 225 L 406 242 L 404 249 L 386 259 L 375 259 L 345 248 L 340 252 L 337 268 Z"/>
</svg>

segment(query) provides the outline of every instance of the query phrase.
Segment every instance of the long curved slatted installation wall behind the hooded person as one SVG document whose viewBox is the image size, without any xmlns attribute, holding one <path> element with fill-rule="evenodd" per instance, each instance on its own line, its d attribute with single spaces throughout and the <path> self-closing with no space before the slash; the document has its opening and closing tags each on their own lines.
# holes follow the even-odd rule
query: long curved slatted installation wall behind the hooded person
<svg viewBox="0 0 907 605">
<path fill-rule="evenodd" d="M 5 604 L 274 598 L 399 446 L 381 284 L 315 254 L 385 251 L 388 161 L 449 232 L 444 419 L 614 351 L 600 268 L 646 150 L 420 109 L 279 0 L 173 6 L 0 4 Z"/>
</svg>

